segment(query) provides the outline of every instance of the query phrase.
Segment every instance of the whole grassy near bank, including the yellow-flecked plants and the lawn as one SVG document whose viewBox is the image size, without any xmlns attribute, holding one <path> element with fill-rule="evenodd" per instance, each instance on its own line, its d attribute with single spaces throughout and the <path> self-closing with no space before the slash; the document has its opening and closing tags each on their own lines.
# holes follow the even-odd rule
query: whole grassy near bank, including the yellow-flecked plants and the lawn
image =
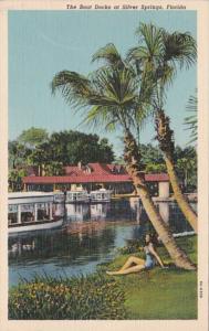
<svg viewBox="0 0 209 331">
<path fill-rule="evenodd" d="M 197 238 L 177 239 L 197 263 Z M 159 267 L 126 276 L 107 276 L 130 254 L 142 256 L 137 245 L 121 249 L 108 265 L 85 277 L 50 276 L 22 281 L 9 292 L 9 319 L 196 319 L 197 273 L 176 269 L 164 247 L 158 248 L 168 269 Z"/>
</svg>

